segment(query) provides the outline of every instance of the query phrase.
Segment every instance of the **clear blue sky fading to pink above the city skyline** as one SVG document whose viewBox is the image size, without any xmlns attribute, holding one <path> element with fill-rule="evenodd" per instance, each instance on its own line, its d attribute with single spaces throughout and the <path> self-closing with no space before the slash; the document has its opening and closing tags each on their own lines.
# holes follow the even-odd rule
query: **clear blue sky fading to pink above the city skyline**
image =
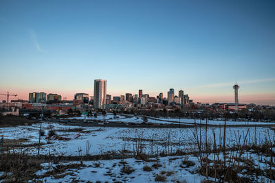
<svg viewBox="0 0 275 183">
<path fill-rule="evenodd" d="M 0 93 L 184 90 L 275 105 L 275 1 L 0 1 Z M 0 100 L 5 96 L 0 95 Z"/>
</svg>

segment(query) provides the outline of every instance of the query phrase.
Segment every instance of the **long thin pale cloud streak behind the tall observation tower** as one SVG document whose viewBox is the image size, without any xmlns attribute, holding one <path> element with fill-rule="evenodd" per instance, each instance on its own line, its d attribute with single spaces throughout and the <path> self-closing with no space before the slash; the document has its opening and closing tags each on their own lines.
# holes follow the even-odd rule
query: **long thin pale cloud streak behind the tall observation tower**
<svg viewBox="0 0 275 183">
<path fill-rule="evenodd" d="M 238 84 L 256 84 L 256 83 L 265 83 L 265 82 L 275 82 L 275 78 L 265 78 L 265 79 L 259 79 L 259 80 L 243 80 L 239 82 L 237 81 Z M 234 84 L 234 82 L 206 84 L 196 88 L 217 88 L 217 87 L 223 87 L 223 86 L 232 86 L 232 84 Z"/>
</svg>

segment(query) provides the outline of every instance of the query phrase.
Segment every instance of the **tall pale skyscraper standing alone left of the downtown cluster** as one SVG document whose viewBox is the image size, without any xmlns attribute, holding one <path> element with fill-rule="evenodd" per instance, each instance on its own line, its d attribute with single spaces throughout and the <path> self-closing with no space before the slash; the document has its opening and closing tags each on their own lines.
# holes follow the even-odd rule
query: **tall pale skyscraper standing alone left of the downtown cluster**
<svg viewBox="0 0 275 183">
<path fill-rule="evenodd" d="M 102 108 L 102 105 L 106 103 L 106 80 L 95 80 L 94 81 L 94 108 Z"/>
</svg>

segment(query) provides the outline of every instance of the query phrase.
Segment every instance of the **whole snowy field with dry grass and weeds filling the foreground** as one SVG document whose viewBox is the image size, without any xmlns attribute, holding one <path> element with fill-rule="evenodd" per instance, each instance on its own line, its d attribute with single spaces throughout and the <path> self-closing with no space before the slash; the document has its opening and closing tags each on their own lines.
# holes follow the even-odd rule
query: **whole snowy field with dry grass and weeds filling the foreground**
<svg viewBox="0 0 275 183">
<path fill-rule="evenodd" d="M 0 182 L 275 180 L 275 136 L 270 127 L 108 127 L 112 121 L 132 123 L 133 117 L 109 123 L 103 123 L 104 118 L 90 119 L 88 125 L 78 119 L 79 123 L 1 127 Z"/>
</svg>

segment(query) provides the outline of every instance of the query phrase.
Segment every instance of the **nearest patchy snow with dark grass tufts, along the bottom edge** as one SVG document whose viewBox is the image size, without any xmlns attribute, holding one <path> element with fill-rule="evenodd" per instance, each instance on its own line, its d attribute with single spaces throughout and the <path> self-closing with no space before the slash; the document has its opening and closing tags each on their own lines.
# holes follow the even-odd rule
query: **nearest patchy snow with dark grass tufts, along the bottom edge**
<svg viewBox="0 0 275 183">
<path fill-rule="evenodd" d="M 236 153 L 236 152 L 233 152 Z M 213 160 L 223 160 L 223 154 L 208 155 L 209 166 L 213 167 Z M 239 157 L 236 156 L 236 157 Z M 236 160 L 236 159 L 232 159 Z M 247 178 L 249 182 L 274 182 L 270 181 L 266 170 L 271 168 L 263 160 L 269 160 L 269 157 L 257 156 L 256 154 L 246 152 L 236 160 L 236 166 L 241 171 L 239 178 Z M 227 160 L 227 164 L 230 161 Z M 164 178 L 166 182 L 201 182 L 202 180 L 212 180 L 200 175 L 199 158 L 186 156 L 167 156 L 150 158 L 147 161 L 137 160 L 135 158 L 122 160 L 96 160 L 65 162 L 58 164 L 42 164 L 43 169 L 36 172 L 39 179 L 43 182 L 158 182 L 157 177 Z M 71 165 L 71 166 L 69 166 Z M 74 165 L 74 166 L 73 166 Z M 146 166 L 147 169 L 144 167 Z M 228 165 L 229 166 L 229 165 Z M 63 167 L 63 171 L 59 171 Z M 68 167 L 68 168 L 66 168 Z M 130 171 L 124 171 L 124 167 Z"/>
</svg>

